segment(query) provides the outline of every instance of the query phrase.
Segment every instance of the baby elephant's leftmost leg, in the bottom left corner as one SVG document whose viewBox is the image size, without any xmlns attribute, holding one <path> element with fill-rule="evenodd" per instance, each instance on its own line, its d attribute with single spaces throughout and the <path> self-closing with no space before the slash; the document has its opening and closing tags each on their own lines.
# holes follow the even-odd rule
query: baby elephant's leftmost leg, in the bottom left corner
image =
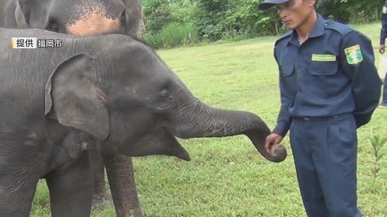
<svg viewBox="0 0 387 217">
<path fill-rule="evenodd" d="M 20 177 L 12 183 L 3 182 L 6 177 L 0 180 L 0 217 L 29 217 L 39 180 L 24 181 L 26 178 Z"/>
</svg>

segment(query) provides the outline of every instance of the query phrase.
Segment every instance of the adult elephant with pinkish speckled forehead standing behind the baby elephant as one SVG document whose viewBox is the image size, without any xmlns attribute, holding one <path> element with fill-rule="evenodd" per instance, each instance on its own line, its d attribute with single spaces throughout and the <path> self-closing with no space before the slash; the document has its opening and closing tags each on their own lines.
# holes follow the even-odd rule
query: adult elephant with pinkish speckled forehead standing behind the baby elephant
<svg viewBox="0 0 387 217">
<path fill-rule="evenodd" d="M 0 0 L 0 27 L 39 28 L 71 35 L 123 33 L 142 38 L 142 0 Z M 117 215 L 142 216 L 130 157 L 94 153 L 93 207 L 111 201 L 105 190 L 105 169 Z M 105 162 L 105 165 L 104 165 Z"/>
</svg>

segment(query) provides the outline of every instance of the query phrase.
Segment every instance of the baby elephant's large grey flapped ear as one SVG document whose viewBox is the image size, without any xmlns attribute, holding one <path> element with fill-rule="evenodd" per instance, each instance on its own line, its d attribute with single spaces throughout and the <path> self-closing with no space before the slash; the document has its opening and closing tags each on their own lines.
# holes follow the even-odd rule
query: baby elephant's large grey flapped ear
<svg viewBox="0 0 387 217">
<path fill-rule="evenodd" d="M 81 53 L 54 69 L 45 88 L 45 115 L 105 139 L 110 131 L 107 97 L 88 79 L 90 63 L 91 57 Z"/>
</svg>

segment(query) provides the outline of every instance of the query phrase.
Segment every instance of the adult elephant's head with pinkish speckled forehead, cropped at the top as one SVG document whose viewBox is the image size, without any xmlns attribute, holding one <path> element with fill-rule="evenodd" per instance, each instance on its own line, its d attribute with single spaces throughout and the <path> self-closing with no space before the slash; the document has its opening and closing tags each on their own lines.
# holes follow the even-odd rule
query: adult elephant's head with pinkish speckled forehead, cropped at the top
<svg viewBox="0 0 387 217">
<path fill-rule="evenodd" d="M 125 33 L 141 37 L 142 0 L 15 0 L 19 28 L 71 35 Z"/>
</svg>

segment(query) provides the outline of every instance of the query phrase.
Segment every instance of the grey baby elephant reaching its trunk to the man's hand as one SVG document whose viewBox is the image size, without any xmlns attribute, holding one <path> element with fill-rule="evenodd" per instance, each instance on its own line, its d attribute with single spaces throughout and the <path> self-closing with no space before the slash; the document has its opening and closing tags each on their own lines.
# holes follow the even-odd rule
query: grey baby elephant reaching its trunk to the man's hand
<svg viewBox="0 0 387 217">
<path fill-rule="evenodd" d="M 11 49 L 11 37 L 61 40 L 62 47 Z M 256 114 L 195 98 L 144 43 L 120 34 L 75 37 L 0 28 L 0 216 L 28 217 L 45 178 L 54 217 L 89 217 L 90 152 L 189 160 L 176 137 L 247 135 L 264 149 L 270 129 Z"/>
</svg>

